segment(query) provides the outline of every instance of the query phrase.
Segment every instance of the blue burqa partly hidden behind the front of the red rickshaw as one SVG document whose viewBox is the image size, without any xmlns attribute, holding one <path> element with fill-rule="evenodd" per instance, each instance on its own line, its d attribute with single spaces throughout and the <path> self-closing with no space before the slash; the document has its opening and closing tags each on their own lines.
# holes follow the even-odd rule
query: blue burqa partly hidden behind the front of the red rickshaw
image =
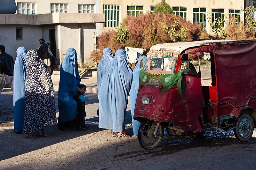
<svg viewBox="0 0 256 170">
<path fill-rule="evenodd" d="M 140 61 L 143 60 L 143 66 L 145 65 L 147 57 L 145 55 L 140 56 L 137 61 L 132 75 L 132 87 L 130 92 L 130 102 L 131 102 L 131 112 L 132 112 L 132 125 L 133 125 L 133 134 L 138 136 L 138 131 L 140 127 L 140 122 L 133 119 L 134 109 L 136 98 L 139 90 L 139 81 L 140 81 Z"/>
</svg>

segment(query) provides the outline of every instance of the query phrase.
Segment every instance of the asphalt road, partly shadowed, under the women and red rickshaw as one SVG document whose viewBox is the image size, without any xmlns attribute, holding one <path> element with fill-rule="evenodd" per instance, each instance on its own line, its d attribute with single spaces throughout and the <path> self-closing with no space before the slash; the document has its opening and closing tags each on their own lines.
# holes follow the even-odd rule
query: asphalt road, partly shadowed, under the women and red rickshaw
<svg viewBox="0 0 256 170">
<path fill-rule="evenodd" d="M 196 139 L 164 135 L 157 149 L 146 151 L 137 137 L 111 138 L 110 129 L 98 128 L 97 93 L 87 97 L 87 131 L 62 132 L 52 124 L 46 129 L 49 137 L 26 139 L 12 132 L 12 92 L 5 88 L 0 93 L 0 169 L 255 169 L 256 138 L 239 142 L 232 129 Z M 126 132 L 132 135 L 130 123 L 128 107 Z"/>
</svg>

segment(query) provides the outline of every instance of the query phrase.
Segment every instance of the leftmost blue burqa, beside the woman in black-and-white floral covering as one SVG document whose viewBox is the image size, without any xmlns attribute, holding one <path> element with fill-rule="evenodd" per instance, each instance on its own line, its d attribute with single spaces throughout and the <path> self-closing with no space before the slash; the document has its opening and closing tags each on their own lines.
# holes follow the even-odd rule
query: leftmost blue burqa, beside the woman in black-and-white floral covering
<svg viewBox="0 0 256 170">
<path fill-rule="evenodd" d="M 16 52 L 17 57 L 13 71 L 13 131 L 19 132 L 23 130 L 24 124 L 27 49 L 25 47 L 19 47 Z"/>
</svg>

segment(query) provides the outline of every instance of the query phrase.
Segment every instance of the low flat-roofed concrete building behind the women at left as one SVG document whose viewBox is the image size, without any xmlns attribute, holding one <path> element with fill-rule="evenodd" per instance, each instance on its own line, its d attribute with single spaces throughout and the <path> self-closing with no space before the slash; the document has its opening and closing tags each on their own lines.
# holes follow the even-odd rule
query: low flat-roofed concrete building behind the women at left
<svg viewBox="0 0 256 170">
<path fill-rule="evenodd" d="M 0 15 L 0 44 L 14 58 L 20 46 L 29 49 L 39 47 L 39 39 L 51 41 L 52 53 L 59 59 L 65 57 L 68 48 L 75 48 L 78 63 L 93 64 L 89 59 L 96 45 L 95 23 L 104 22 L 104 14 L 48 13 L 39 15 Z"/>
</svg>

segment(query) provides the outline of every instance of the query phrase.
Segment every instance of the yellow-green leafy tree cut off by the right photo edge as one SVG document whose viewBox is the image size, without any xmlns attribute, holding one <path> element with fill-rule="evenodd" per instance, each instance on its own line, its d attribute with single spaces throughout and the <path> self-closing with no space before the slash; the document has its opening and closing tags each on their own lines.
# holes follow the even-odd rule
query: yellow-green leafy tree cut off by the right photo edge
<svg viewBox="0 0 256 170">
<path fill-rule="evenodd" d="M 256 8 L 254 6 L 247 6 L 244 9 L 245 26 L 248 27 L 249 31 L 255 31 L 256 21 L 254 19 L 254 12 Z"/>
</svg>

